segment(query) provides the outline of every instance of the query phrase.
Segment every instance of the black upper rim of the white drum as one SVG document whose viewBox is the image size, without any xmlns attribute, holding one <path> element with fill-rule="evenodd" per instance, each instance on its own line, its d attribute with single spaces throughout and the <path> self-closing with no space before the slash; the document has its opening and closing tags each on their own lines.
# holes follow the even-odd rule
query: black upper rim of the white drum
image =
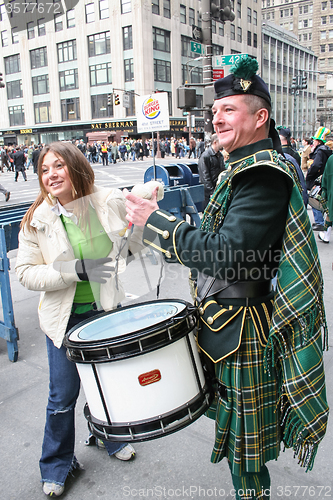
<svg viewBox="0 0 333 500">
<path fill-rule="evenodd" d="M 184 309 L 182 309 L 182 311 L 179 311 L 176 315 L 174 316 L 171 316 L 170 318 L 167 318 L 167 319 L 163 319 L 162 321 L 159 321 L 157 323 L 155 323 L 154 325 L 151 325 L 149 328 L 142 328 L 141 330 L 137 330 L 135 332 L 131 332 L 131 333 L 127 333 L 127 334 L 124 334 L 124 335 L 118 335 L 118 336 L 115 336 L 115 337 L 112 337 L 112 338 L 107 338 L 107 339 L 100 339 L 100 340 L 86 340 L 86 341 L 80 341 L 79 343 L 78 342 L 75 342 L 75 341 L 72 341 L 70 340 L 70 335 L 75 331 L 77 330 L 78 328 L 82 328 L 83 325 L 85 324 L 88 324 L 88 323 L 91 323 L 92 320 L 96 320 L 96 319 L 100 319 L 104 316 L 110 316 L 111 314 L 114 314 L 114 313 L 117 313 L 120 311 L 120 309 L 113 309 L 112 311 L 105 311 L 103 313 L 100 313 L 96 316 L 94 316 L 93 318 L 87 318 L 83 321 L 81 321 L 80 323 L 78 323 L 77 325 L 75 325 L 73 328 L 71 328 L 66 334 L 65 334 L 65 337 L 64 337 L 64 340 L 63 340 L 63 345 L 64 347 L 67 348 L 67 357 L 71 359 L 71 355 L 69 353 L 70 350 L 75 350 L 75 351 L 94 351 L 94 350 L 98 350 L 98 349 L 103 349 L 107 346 L 110 346 L 112 345 L 113 348 L 117 348 L 117 347 L 120 347 L 122 344 L 126 344 L 128 342 L 135 342 L 135 341 L 138 341 L 140 339 L 143 339 L 145 336 L 149 336 L 149 335 L 153 335 L 154 333 L 158 333 L 159 330 L 162 332 L 166 329 L 168 323 L 174 323 L 175 320 L 179 320 L 180 318 L 182 319 L 185 319 L 185 318 L 188 318 L 189 316 L 193 315 L 193 314 L 196 314 L 196 311 L 197 311 L 197 308 L 195 306 L 193 306 L 193 304 L 189 303 L 189 302 L 186 302 L 185 300 L 181 300 L 181 299 L 160 299 L 160 300 L 152 300 L 152 301 L 146 301 L 146 302 L 141 302 L 141 303 L 138 303 L 138 304 L 131 304 L 131 305 L 128 305 L 128 306 L 124 306 L 121 308 L 121 310 L 125 310 L 125 309 L 131 309 L 133 308 L 133 306 L 137 305 L 137 306 L 146 306 L 146 305 L 150 305 L 150 304 L 156 304 L 156 303 L 163 303 L 163 302 L 168 302 L 168 303 L 181 303 L 183 304 L 185 307 Z M 164 328 L 162 328 L 164 326 Z M 171 325 L 170 325 L 171 326 Z M 193 326 L 194 328 L 194 326 Z M 192 328 L 192 329 L 193 329 Z M 182 338 L 182 336 L 185 336 L 187 335 L 189 332 L 191 331 L 190 328 L 188 328 L 185 332 L 184 332 L 184 335 L 181 335 L 181 336 L 177 336 L 177 338 L 175 340 L 178 340 L 179 338 Z M 171 342 L 171 340 L 170 340 Z M 147 352 L 147 351 L 145 351 Z M 137 354 L 134 354 L 134 355 L 137 355 Z M 119 359 L 119 358 L 118 358 Z M 106 358 L 105 361 L 111 361 L 112 359 L 110 358 Z M 75 361 L 75 362 L 85 362 L 84 360 L 72 360 L 72 361 Z M 91 362 L 91 361 L 88 361 L 88 362 Z M 99 362 L 99 361 L 98 361 Z"/>
</svg>

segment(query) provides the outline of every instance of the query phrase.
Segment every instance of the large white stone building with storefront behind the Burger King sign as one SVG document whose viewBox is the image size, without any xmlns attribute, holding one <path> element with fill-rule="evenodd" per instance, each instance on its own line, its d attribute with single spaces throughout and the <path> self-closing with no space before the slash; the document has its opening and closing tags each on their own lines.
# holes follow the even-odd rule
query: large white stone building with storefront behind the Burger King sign
<svg viewBox="0 0 333 500">
<path fill-rule="evenodd" d="M 176 90 L 189 77 L 202 82 L 202 60 L 191 51 L 202 2 L 181 1 L 66 1 L 65 10 L 56 0 L 34 0 L 17 4 L 27 6 L 24 13 L 0 3 L 1 142 L 137 137 L 135 95 L 155 91 L 169 95 L 169 135 L 188 132 Z M 235 0 L 234 9 L 233 23 L 212 21 L 213 54 L 260 60 L 260 5 Z M 202 111 L 195 114 L 192 132 L 199 134 Z"/>
</svg>

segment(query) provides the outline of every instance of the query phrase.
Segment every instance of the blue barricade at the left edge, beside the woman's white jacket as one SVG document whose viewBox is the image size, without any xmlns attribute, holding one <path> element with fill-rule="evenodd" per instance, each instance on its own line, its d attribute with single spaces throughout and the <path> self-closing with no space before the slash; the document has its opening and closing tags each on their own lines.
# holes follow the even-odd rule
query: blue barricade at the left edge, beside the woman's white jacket
<svg viewBox="0 0 333 500">
<path fill-rule="evenodd" d="M 8 357 L 13 362 L 18 358 L 18 330 L 14 322 L 9 280 L 10 263 L 7 252 L 18 247 L 20 223 L 30 205 L 31 203 L 21 203 L 0 208 L 0 286 L 3 311 L 3 321 L 0 321 L 0 337 L 7 341 Z"/>
</svg>

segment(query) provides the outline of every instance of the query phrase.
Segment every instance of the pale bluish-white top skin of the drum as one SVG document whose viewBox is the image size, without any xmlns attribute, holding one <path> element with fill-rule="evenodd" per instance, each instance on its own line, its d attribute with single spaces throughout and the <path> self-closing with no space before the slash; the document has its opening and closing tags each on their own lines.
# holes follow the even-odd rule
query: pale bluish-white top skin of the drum
<svg viewBox="0 0 333 500">
<path fill-rule="evenodd" d="M 173 300 L 155 301 L 124 307 L 103 314 L 71 330 L 69 341 L 77 344 L 127 337 L 170 320 L 184 311 L 186 303 Z"/>
</svg>

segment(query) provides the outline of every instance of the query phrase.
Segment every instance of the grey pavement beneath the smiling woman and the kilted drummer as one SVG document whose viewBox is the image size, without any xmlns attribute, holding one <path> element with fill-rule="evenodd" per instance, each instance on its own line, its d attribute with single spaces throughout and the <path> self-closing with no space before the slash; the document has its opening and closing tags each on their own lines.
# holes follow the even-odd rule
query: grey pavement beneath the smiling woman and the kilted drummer
<svg viewBox="0 0 333 500">
<path fill-rule="evenodd" d="M 316 236 L 317 238 L 317 236 Z M 333 407 L 333 242 L 318 243 L 325 276 L 326 312 L 331 332 L 325 353 L 328 400 Z M 8 360 L 6 342 L 0 339 L 0 500 L 38 500 L 42 492 L 38 460 L 41 453 L 45 407 L 48 395 L 48 365 L 45 339 L 37 319 L 38 293 L 24 289 L 17 281 L 16 251 L 10 252 L 11 286 L 16 325 L 19 328 L 19 359 Z M 176 267 L 175 267 L 176 266 Z M 149 262 L 147 263 L 149 267 Z M 159 268 L 153 266 L 151 284 Z M 187 270 L 166 266 L 160 298 L 190 300 Z M 176 273 L 176 274 L 175 274 Z M 143 270 L 137 269 L 124 280 L 126 291 L 139 295 L 148 291 Z M 144 288 L 146 287 L 146 289 Z M 148 292 L 140 300 L 154 300 Z M 214 442 L 214 423 L 201 417 L 187 428 L 170 436 L 135 444 L 137 456 L 131 462 L 109 458 L 96 447 L 87 447 L 87 423 L 83 415 L 84 394 L 77 404 L 76 455 L 85 471 L 66 483 L 66 500 L 117 500 L 125 498 L 219 498 L 233 499 L 232 482 L 226 460 L 210 463 Z M 268 464 L 271 500 L 278 498 L 333 498 L 333 423 L 320 446 L 312 472 L 305 473 L 286 450 L 277 462 Z"/>
</svg>

